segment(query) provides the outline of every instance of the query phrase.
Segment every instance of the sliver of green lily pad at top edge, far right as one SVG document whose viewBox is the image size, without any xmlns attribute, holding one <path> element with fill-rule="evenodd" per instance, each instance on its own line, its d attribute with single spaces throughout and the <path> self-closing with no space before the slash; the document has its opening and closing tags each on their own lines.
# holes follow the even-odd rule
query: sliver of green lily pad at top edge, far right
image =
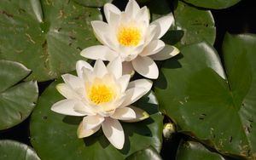
<svg viewBox="0 0 256 160">
<path fill-rule="evenodd" d="M 208 9 L 226 9 L 241 0 L 184 0 L 186 3 L 191 3 L 197 7 L 208 8 Z"/>
</svg>

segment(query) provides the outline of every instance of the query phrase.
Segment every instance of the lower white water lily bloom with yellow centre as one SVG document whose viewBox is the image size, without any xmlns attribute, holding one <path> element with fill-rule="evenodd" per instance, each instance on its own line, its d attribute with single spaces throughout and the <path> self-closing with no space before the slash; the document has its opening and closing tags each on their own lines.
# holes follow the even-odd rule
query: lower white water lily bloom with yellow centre
<svg viewBox="0 0 256 160">
<path fill-rule="evenodd" d="M 122 64 L 118 58 L 105 66 L 96 60 L 94 68 L 79 60 L 76 65 L 78 77 L 62 75 L 65 83 L 56 89 L 66 98 L 56 102 L 51 110 L 70 116 L 84 117 L 79 124 L 79 138 L 88 137 L 102 127 L 110 143 L 122 149 L 125 135 L 119 120 L 137 122 L 148 113 L 131 104 L 147 94 L 152 82 L 146 79 L 131 83 L 130 75 L 122 76 Z"/>
</svg>

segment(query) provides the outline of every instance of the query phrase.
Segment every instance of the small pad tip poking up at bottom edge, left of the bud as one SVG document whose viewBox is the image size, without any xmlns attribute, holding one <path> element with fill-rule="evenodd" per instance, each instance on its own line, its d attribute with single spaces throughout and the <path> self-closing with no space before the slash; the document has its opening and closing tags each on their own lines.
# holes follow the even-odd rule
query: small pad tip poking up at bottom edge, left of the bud
<svg viewBox="0 0 256 160">
<path fill-rule="evenodd" d="M 133 153 L 131 156 L 125 158 L 125 160 L 161 160 L 160 154 L 154 149 L 152 146 L 148 146 L 147 148 L 137 151 Z"/>
</svg>

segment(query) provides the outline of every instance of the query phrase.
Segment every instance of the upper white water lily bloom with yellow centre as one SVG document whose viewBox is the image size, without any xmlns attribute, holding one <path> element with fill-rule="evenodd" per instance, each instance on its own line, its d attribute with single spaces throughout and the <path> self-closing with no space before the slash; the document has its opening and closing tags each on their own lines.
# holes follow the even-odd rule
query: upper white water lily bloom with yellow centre
<svg viewBox="0 0 256 160">
<path fill-rule="evenodd" d="M 147 7 L 140 9 L 135 0 L 129 0 L 123 12 L 107 3 L 104 14 L 108 23 L 91 21 L 96 38 L 103 45 L 84 49 L 81 52 L 84 57 L 111 61 L 119 56 L 125 73 L 135 70 L 144 77 L 155 79 L 159 71 L 154 60 L 166 60 L 179 53 L 177 48 L 165 47 L 160 40 L 172 25 L 172 14 L 149 24 Z"/>
</svg>

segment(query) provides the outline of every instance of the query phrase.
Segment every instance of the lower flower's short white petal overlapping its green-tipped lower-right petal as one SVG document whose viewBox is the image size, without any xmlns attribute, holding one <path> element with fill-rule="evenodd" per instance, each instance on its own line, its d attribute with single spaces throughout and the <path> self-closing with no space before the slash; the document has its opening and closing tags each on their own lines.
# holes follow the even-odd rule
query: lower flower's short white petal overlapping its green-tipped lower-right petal
<svg viewBox="0 0 256 160">
<path fill-rule="evenodd" d="M 131 120 L 136 118 L 136 113 L 129 107 L 123 107 L 117 108 L 111 117 L 119 120 Z"/>
</svg>

